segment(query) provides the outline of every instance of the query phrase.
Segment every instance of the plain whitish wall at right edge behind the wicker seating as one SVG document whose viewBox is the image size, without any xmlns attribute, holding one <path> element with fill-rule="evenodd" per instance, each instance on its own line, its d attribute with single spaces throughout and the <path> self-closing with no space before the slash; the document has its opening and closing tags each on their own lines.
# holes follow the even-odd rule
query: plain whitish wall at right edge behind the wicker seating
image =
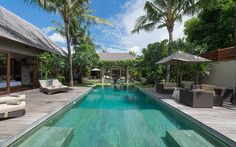
<svg viewBox="0 0 236 147">
<path fill-rule="evenodd" d="M 213 63 L 210 75 L 206 76 L 202 83 L 234 89 L 236 87 L 236 60 Z"/>
</svg>

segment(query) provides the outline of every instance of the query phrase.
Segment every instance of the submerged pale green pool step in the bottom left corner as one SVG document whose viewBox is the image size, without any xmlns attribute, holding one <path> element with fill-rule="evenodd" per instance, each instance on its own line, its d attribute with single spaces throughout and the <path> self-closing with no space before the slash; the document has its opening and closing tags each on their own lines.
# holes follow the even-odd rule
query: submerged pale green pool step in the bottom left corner
<svg viewBox="0 0 236 147">
<path fill-rule="evenodd" d="M 73 137 L 73 128 L 42 127 L 19 147 L 65 147 Z"/>
</svg>

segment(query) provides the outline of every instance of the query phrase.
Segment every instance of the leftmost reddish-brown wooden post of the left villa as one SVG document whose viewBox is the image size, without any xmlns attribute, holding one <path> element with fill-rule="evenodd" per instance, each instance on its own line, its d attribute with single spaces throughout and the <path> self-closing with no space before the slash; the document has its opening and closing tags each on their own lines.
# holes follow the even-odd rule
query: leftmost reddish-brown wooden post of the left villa
<svg viewBox="0 0 236 147">
<path fill-rule="evenodd" d="M 6 92 L 9 94 L 11 92 L 10 82 L 11 82 L 11 54 L 7 53 L 7 73 L 6 73 Z"/>
</svg>

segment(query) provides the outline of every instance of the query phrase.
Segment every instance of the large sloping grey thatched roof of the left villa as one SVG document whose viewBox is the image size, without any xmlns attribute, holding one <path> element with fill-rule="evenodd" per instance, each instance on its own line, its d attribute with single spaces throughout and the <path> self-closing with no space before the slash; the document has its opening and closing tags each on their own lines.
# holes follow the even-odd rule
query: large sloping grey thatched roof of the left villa
<svg viewBox="0 0 236 147">
<path fill-rule="evenodd" d="M 43 51 L 65 55 L 51 39 L 37 27 L 0 6 L 0 37 Z"/>
</svg>

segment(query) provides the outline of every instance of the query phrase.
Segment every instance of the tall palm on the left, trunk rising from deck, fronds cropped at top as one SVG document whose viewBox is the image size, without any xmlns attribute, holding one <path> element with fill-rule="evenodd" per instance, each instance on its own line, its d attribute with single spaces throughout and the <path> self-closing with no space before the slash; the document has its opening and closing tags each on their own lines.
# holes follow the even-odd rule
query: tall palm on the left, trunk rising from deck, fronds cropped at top
<svg viewBox="0 0 236 147">
<path fill-rule="evenodd" d="M 81 7 L 89 0 L 25 0 L 27 3 L 36 4 L 40 8 L 51 12 L 58 13 L 65 26 L 65 36 L 68 49 L 68 63 L 69 63 L 69 85 L 73 86 L 73 72 L 72 72 L 72 55 L 71 55 L 71 21 L 74 16 L 77 16 Z"/>
</svg>

